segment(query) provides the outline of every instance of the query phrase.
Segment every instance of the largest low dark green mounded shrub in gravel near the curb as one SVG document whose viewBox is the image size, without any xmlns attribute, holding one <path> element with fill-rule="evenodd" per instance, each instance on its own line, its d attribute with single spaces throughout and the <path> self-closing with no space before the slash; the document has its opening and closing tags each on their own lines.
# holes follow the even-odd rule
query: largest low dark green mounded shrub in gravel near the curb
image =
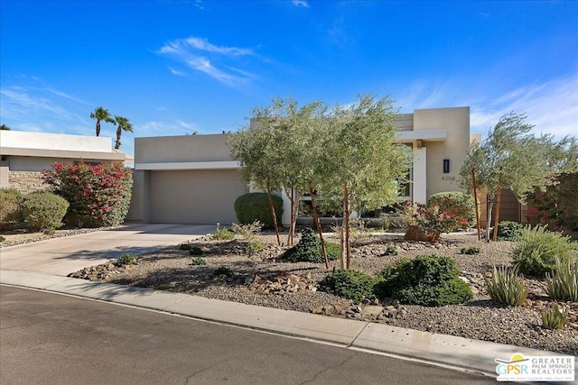
<svg viewBox="0 0 578 385">
<path fill-rule="evenodd" d="M 452 258 L 419 255 L 402 258 L 381 270 L 378 296 L 396 298 L 402 303 L 423 306 L 459 304 L 471 298 L 471 289 L 460 279 Z"/>
</svg>

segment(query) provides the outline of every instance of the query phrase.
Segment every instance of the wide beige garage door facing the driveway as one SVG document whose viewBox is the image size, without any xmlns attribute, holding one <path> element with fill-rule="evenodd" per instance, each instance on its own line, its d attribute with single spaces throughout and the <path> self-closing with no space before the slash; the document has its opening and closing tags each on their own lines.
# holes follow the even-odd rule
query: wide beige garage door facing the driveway
<svg viewBox="0 0 578 385">
<path fill-rule="evenodd" d="M 231 224 L 233 203 L 246 192 L 238 170 L 151 171 L 151 222 Z"/>
</svg>

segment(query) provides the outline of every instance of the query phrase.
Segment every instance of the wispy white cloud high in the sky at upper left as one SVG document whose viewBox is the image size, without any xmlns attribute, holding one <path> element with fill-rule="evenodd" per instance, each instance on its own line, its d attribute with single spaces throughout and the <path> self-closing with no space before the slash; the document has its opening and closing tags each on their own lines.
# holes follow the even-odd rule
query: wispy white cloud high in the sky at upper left
<svg viewBox="0 0 578 385">
<path fill-rule="evenodd" d="M 158 52 L 171 55 L 190 69 L 200 71 L 228 87 L 241 87 L 256 78 L 247 70 L 227 64 L 239 57 L 256 56 L 253 50 L 246 48 L 218 46 L 207 39 L 189 37 L 170 41 Z M 173 75 L 185 75 L 182 71 L 170 70 Z"/>
</svg>

